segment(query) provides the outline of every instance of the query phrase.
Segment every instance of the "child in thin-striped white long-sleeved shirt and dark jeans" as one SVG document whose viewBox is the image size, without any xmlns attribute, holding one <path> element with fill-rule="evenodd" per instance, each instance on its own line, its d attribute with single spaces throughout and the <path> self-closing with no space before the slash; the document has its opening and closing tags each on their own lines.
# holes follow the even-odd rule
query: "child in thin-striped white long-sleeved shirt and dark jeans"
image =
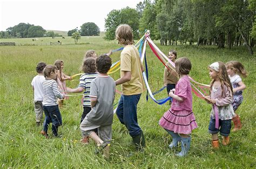
<svg viewBox="0 0 256 169">
<path fill-rule="evenodd" d="M 53 65 L 47 65 L 44 68 L 44 83 L 43 83 L 43 91 L 44 91 L 44 99 L 43 99 L 43 109 L 45 114 L 43 130 L 41 134 L 43 134 L 46 138 L 48 138 L 48 126 L 50 122 L 52 122 L 52 133 L 53 136 L 58 136 L 58 126 L 62 125 L 62 116 L 59 112 L 59 107 L 56 104 L 57 98 L 62 99 L 64 95 L 58 91 L 58 85 L 56 83 L 57 78 L 57 67 Z"/>
</svg>

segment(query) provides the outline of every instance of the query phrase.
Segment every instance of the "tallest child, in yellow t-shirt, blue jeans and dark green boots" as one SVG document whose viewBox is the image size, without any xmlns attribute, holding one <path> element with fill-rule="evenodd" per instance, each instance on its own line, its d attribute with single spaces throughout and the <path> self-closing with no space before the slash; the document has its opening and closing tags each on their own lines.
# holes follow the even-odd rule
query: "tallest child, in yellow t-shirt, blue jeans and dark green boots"
<svg viewBox="0 0 256 169">
<path fill-rule="evenodd" d="M 122 84 L 123 94 L 116 113 L 120 123 L 129 130 L 137 150 L 143 150 L 146 144 L 143 131 L 138 125 L 137 104 L 145 90 L 142 76 L 144 68 L 139 52 L 133 45 L 132 28 L 127 24 L 119 25 L 116 29 L 116 39 L 124 46 L 120 56 L 121 78 L 116 80 L 116 85 Z"/>
</svg>

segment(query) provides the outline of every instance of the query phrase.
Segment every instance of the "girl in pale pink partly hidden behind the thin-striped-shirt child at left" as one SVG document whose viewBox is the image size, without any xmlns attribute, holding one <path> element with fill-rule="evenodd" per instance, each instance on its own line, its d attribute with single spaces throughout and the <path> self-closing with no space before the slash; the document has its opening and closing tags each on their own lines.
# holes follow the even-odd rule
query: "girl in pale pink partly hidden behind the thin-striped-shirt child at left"
<svg viewBox="0 0 256 169">
<path fill-rule="evenodd" d="M 58 76 L 57 76 L 58 87 L 60 89 L 60 92 L 65 95 L 67 94 L 65 80 L 72 80 L 72 78 L 70 76 L 66 76 L 65 73 L 63 72 L 64 62 L 62 60 L 56 60 L 54 65 L 58 69 Z M 69 97 L 65 96 L 64 99 L 69 99 Z M 62 106 L 63 102 L 64 102 L 63 99 L 59 99 L 57 103 L 59 106 Z"/>
</svg>

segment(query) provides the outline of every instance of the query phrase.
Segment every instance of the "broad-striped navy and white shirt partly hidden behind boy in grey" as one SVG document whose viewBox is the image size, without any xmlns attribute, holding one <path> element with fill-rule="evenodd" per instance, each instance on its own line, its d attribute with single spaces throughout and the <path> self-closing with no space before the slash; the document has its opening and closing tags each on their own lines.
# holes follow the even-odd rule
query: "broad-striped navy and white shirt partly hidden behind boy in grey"
<svg viewBox="0 0 256 169">
<path fill-rule="evenodd" d="M 98 76 L 99 73 L 84 73 L 80 76 L 79 87 L 84 88 L 83 106 L 91 107 L 91 98 L 89 97 L 91 91 L 91 82 Z"/>
</svg>

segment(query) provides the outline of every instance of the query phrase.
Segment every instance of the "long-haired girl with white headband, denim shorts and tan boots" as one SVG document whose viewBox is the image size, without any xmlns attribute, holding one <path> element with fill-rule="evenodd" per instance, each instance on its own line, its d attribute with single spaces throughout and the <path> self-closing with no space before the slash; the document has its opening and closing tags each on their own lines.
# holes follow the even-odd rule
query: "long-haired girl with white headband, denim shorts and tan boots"
<svg viewBox="0 0 256 169">
<path fill-rule="evenodd" d="M 228 78 L 225 64 L 214 62 L 209 67 L 212 78 L 210 84 L 211 96 L 206 96 L 207 103 L 212 104 L 208 132 L 212 134 L 212 147 L 219 148 L 218 132 L 223 136 L 223 145 L 230 143 L 231 119 L 233 116 L 233 92 L 230 78 Z"/>
</svg>

